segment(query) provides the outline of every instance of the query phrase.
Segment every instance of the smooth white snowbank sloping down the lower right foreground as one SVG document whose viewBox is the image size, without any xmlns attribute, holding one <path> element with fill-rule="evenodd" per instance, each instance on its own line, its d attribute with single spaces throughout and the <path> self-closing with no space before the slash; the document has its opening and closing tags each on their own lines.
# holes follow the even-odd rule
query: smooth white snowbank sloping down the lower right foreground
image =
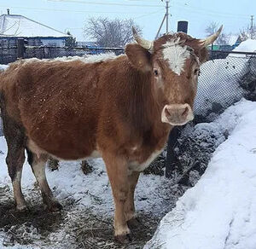
<svg viewBox="0 0 256 249">
<path fill-rule="evenodd" d="M 177 201 L 144 248 L 254 249 L 256 103 L 241 100 L 215 123 L 230 133 L 201 180 Z M 218 127 L 216 126 L 218 130 Z"/>
</svg>

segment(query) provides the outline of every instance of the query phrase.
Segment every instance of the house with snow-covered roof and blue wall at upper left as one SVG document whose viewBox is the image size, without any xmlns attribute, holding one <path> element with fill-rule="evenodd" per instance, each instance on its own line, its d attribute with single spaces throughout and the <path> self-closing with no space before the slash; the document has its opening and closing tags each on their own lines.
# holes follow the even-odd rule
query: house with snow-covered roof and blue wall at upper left
<svg viewBox="0 0 256 249">
<path fill-rule="evenodd" d="M 15 46 L 17 38 L 25 38 L 31 46 L 65 46 L 70 37 L 20 14 L 0 15 L 0 47 Z"/>
</svg>

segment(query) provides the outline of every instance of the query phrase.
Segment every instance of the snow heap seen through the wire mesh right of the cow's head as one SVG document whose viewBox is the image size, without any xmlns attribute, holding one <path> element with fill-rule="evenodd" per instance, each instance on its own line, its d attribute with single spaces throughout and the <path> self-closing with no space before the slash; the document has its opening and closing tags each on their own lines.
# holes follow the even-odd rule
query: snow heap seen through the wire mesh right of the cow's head
<svg viewBox="0 0 256 249">
<path fill-rule="evenodd" d="M 226 108 L 239 101 L 245 93 L 239 80 L 246 72 L 246 58 L 227 57 L 205 62 L 198 78 L 195 114 L 207 115 L 214 102 Z"/>
</svg>

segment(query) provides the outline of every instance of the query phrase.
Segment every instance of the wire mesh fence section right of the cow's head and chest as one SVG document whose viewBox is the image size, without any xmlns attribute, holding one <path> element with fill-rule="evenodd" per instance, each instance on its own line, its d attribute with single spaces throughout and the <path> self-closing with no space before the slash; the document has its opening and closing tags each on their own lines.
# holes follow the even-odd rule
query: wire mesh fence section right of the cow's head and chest
<svg viewBox="0 0 256 249">
<path fill-rule="evenodd" d="M 166 157 L 166 177 L 191 183 L 190 173 L 201 175 L 218 146 L 219 136 L 195 125 L 210 123 L 242 97 L 256 101 L 256 53 L 211 51 L 212 60 L 201 66 L 195 99 L 195 119 L 172 130 Z M 221 134 L 225 139 L 228 134 Z M 179 177 L 177 177 L 179 176 Z M 189 183 L 188 183 L 189 182 Z"/>
</svg>

